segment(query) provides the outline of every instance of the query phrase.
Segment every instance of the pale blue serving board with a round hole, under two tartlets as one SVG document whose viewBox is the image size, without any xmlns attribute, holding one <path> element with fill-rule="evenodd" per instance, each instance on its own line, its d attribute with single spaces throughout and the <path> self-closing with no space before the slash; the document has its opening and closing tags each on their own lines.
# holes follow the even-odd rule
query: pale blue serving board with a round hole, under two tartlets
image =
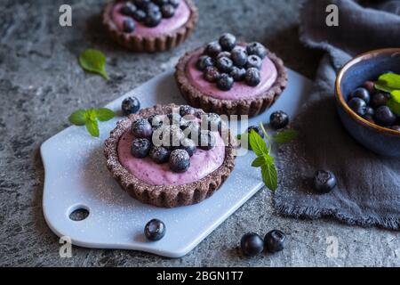
<svg viewBox="0 0 400 285">
<path fill-rule="evenodd" d="M 274 110 L 285 110 L 293 117 L 307 100 L 311 82 L 288 70 L 289 85 L 271 110 L 252 118 L 250 124 L 268 122 Z M 106 107 L 118 111 L 125 97 L 135 95 L 141 107 L 156 103 L 184 103 L 168 70 L 125 94 Z M 124 248 L 160 256 L 188 254 L 247 199 L 260 190 L 260 171 L 250 167 L 254 155 L 236 159 L 236 167 L 226 183 L 210 198 L 183 208 L 156 208 L 140 203 L 126 194 L 111 177 L 103 155 L 103 143 L 116 126 L 115 118 L 100 124 L 100 138 L 92 138 L 84 126 L 70 126 L 41 146 L 44 163 L 44 217 L 58 236 L 86 248 Z M 73 221 L 69 214 L 85 208 L 89 216 Z M 166 225 L 163 240 L 149 242 L 143 229 L 152 218 Z"/>
</svg>

